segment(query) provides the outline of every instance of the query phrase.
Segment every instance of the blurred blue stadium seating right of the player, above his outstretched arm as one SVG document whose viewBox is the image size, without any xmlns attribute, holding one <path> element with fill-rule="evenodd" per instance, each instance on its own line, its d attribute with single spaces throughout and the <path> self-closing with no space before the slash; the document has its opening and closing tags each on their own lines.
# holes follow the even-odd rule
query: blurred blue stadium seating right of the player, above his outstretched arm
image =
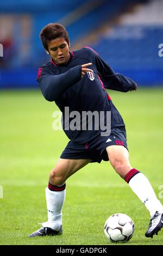
<svg viewBox="0 0 163 256">
<path fill-rule="evenodd" d="M 163 83 L 162 26 L 117 26 L 92 47 L 116 72 L 133 77 L 144 85 Z"/>
</svg>

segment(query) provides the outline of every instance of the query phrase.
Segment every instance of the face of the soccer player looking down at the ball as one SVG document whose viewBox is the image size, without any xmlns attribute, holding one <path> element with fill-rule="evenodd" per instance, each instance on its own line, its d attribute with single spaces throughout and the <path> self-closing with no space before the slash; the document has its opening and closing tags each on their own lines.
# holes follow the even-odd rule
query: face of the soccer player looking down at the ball
<svg viewBox="0 0 163 256">
<path fill-rule="evenodd" d="M 48 51 L 58 65 L 66 64 L 70 59 L 69 45 L 65 38 L 56 38 L 48 42 Z"/>
</svg>

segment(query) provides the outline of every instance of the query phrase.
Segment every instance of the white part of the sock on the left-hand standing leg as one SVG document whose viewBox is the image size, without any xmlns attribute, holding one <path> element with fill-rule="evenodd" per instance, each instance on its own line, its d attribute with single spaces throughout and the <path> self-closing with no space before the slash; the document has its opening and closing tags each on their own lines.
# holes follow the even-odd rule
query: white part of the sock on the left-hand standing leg
<svg viewBox="0 0 163 256">
<path fill-rule="evenodd" d="M 60 226 L 62 225 L 62 206 L 65 202 L 66 190 L 51 191 L 48 187 L 46 187 L 45 192 L 48 221 L 42 223 L 42 227 L 59 230 Z"/>
</svg>

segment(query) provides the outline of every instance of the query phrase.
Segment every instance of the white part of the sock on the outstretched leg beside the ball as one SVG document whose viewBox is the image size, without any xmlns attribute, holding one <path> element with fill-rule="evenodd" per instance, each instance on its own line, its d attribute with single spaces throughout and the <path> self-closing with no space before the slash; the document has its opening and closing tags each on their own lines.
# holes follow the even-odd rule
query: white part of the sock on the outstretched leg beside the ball
<svg viewBox="0 0 163 256">
<path fill-rule="evenodd" d="M 129 186 L 136 196 L 139 197 L 141 202 L 145 204 L 151 214 L 151 217 L 156 211 L 163 212 L 163 206 L 156 198 L 155 192 L 145 175 L 137 173 L 130 179 Z"/>
</svg>

